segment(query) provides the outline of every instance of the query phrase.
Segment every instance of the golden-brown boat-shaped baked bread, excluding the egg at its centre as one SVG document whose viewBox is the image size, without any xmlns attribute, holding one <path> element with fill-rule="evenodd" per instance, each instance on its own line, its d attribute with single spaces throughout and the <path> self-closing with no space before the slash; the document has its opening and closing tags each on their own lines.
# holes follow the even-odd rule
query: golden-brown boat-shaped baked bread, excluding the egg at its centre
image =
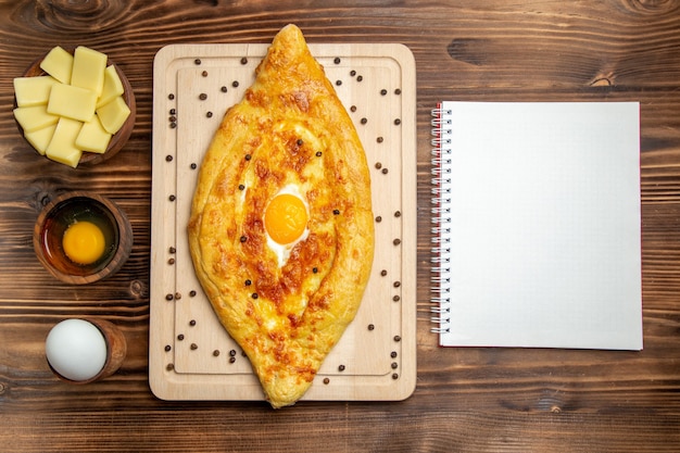
<svg viewBox="0 0 680 453">
<path fill-rule="evenodd" d="M 203 159 L 188 225 L 197 276 L 274 407 L 293 404 L 358 310 L 374 226 L 366 156 L 298 27 L 275 37 Z M 263 213 L 284 187 L 308 234 L 284 264 Z"/>
</svg>

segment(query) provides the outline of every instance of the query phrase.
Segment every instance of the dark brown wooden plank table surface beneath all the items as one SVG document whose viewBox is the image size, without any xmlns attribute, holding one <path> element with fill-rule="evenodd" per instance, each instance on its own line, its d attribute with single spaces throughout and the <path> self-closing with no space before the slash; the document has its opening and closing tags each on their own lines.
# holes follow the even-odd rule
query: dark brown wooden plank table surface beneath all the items
<svg viewBox="0 0 680 453">
<path fill-rule="evenodd" d="M 0 2 L 0 450 L 680 451 L 680 2 L 677 0 L 37 0 Z M 417 343 L 403 402 L 164 402 L 148 383 L 152 63 L 168 43 L 268 42 L 287 23 L 310 42 L 401 42 L 417 64 Z M 54 45 L 109 53 L 137 123 L 105 164 L 35 154 L 12 117 L 12 78 Z M 644 351 L 440 349 L 429 328 L 430 110 L 441 99 L 639 101 Z M 135 231 L 113 278 L 53 279 L 32 247 L 65 190 L 116 200 Z M 45 338 L 97 316 L 128 354 L 103 381 L 52 375 Z"/>
</svg>

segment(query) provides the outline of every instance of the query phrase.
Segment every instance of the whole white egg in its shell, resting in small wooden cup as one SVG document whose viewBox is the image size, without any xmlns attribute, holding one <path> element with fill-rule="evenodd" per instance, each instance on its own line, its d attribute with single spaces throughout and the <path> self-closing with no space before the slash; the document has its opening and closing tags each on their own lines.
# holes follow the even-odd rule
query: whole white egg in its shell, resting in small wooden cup
<svg viewBox="0 0 680 453">
<path fill-rule="evenodd" d="M 62 320 L 47 336 L 45 353 L 52 368 L 70 380 L 88 380 L 106 362 L 102 332 L 84 319 Z"/>
</svg>

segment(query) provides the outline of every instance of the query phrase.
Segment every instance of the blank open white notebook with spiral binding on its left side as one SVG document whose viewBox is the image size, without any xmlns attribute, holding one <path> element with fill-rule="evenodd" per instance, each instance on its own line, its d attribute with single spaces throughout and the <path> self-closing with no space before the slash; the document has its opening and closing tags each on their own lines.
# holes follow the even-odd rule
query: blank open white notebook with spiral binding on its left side
<svg viewBox="0 0 680 453">
<path fill-rule="evenodd" d="M 438 105 L 441 345 L 642 349 L 639 112 L 637 102 Z"/>
</svg>

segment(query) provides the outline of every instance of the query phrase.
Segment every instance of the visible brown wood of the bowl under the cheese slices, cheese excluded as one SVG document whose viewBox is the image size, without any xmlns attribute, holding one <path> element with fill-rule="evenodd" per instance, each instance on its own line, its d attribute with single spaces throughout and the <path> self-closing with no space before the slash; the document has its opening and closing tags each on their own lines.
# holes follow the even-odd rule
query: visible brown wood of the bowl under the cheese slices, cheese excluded
<svg viewBox="0 0 680 453">
<path fill-rule="evenodd" d="M 71 54 L 73 54 L 74 52 L 74 49 L 64 49 L 64 50 L 66 50 Z M 42 59 L 47 56 L 48 53 L 49 51 L 45 52 L 42 55 L 36 59 L 28 66 L 28 68 L 26 68 L 23 76 L 24 77 L 37 77 L 37 76 L 47 75 L 47 73 L 42 71 L 42 68 L 40 67 L 40 63 L 42 62 Z M 116 73 L 118 74 L 118 77 L 121 77 L 121 83 L 123 84 L 123 89 L 124 89 L 123 99 L 125 100 L 125 103 L 127 104 L 127 106 L 130 109 L 130 115 L 125 121 L 125 124 L 123 124 L 123 127 L 121 127 L 121 129 L 111 137 L 109 147 L 106 147 L 106 152 L 99 154 L 96 152 L 85 151 L 83 152 L 83 155 L 80 156 L 80 161 L 78 165 L 98 164 L 100 162 L 108 161 L 109 159 L 116 155 L 117 152 L 123 149 L 127 140 L 130 138 L 130 134 L 133 133 L 133 128 L 135 127 L 135 119 L 137 117 L 137 101 L 135 99 L 135 92 L 133 91 L 133 87 L 129 80 L 127 79 L 127 77 L 125 76 L 125 74 L 123 74 L 123 71 L 115 63 L 113 63 L 111 59 L 109 59 L 106 64 L 108 65 L 113 64 L 113 66 L 116 70 Z M 14 108 L 16 108 L 16 99 L 14 99 Z M 24 129 L 18 123 L 16 123 L 16 127 L 18 128 L 18 131 L 23 137 Z"/>
</svg>

